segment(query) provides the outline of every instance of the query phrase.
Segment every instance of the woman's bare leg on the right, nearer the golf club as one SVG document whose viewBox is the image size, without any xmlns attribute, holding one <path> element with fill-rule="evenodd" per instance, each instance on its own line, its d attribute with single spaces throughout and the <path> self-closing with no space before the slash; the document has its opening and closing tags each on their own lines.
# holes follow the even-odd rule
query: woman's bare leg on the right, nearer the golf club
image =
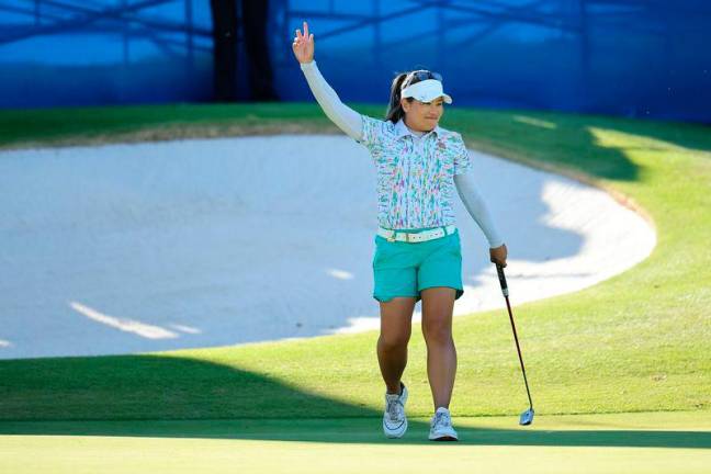
<svg viewBox="0 0 711 474">
<path fill-rule="evenodd" d="M 456 349 L 452 339 L 452 313 L 456 291 L 447 286 L 425 289 L 422 335 L 427 343 L 427 375 L 435 409 L 449 409 L 456 373 Z"/>
</svg>

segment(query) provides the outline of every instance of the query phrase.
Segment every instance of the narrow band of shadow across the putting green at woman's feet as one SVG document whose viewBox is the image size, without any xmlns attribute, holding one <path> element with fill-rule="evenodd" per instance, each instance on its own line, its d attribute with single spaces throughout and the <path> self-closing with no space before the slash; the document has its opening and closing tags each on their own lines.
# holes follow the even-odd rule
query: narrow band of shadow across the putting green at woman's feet
<svg viewBox="0 0 711 474">
<path fill-rule="evenodd" d="M 511 421 L 515 424 L 515 421 Z M 456 427 L 458 444 L 711 448 L 711 432 L 662 430 L 541 430 Z M 406 436 L 386 439 L 379 418 L 291 420 L 135 420 L 135 421 L 0 421 L 0 435 L 106 436 L 150 438 L 237 439 L 370 444 L 432 444 L 429 425 L 410 420 Z"/>
</svg>

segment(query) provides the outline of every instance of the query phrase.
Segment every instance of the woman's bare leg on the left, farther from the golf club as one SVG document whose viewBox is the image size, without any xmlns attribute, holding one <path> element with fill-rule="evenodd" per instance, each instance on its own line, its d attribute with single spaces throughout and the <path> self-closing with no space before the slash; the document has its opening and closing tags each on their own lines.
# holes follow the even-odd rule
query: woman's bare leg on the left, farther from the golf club
<svg viewBox="0 0 711 474">
<path fill-rule="evenodd" d="M 407 365 L 407 342 L 411 334 L 415 297 L 395 297 L 381 303 L 381 334 L 377 361 L 387 393 L 398 394 Z"/>
</svg>

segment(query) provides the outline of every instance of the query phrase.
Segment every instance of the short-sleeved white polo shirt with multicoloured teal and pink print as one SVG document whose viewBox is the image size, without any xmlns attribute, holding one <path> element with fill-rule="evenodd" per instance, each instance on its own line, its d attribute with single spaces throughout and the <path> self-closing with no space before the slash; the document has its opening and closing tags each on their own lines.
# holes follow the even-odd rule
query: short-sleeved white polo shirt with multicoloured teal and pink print
<svg viewBox="0 0 711 474">
<path fill-rule="evenodd" d="M 360 140 L 377 172 L 377 224 L 415 229 L 455 224 L 454 174 L 472 168 L 462 135 L 440 126 L 421 137 L 396 124 L 362 115 Z"/>
</svg>

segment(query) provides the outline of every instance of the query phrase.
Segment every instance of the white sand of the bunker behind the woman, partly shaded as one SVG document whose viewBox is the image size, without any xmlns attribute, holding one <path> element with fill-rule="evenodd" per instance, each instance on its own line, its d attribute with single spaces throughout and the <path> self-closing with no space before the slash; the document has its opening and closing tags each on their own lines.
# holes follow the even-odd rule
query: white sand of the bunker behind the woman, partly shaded
<svg viewBox="0 0 711 474">
<path fill-rule="evenodd" d="M 472 154 L 509 249 L 512 305 L 590 286 L 652 251 L 653 229 L 608 194 Z M 505 308 L 484 236 L 456 205 L 455 315 Z M 0 358 L 376 328 L 375 218 L 374 167 L 345 136 L 2 153 Z"/>
</svg>

